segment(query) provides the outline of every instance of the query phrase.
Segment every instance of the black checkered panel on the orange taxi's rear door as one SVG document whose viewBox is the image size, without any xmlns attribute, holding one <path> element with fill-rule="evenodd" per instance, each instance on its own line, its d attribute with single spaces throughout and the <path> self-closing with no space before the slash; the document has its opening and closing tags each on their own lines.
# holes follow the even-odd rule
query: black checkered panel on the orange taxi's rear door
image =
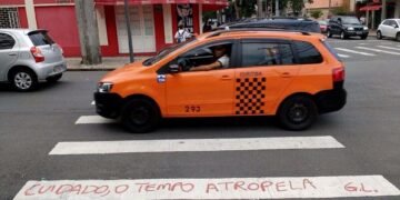
<svg viewBox="0 0 400 200">
<path fill-rule="evenodd" d="M 236 80 L 236 114 L 263 114 L 266 106 L 266 78 Z"/>
</svg>

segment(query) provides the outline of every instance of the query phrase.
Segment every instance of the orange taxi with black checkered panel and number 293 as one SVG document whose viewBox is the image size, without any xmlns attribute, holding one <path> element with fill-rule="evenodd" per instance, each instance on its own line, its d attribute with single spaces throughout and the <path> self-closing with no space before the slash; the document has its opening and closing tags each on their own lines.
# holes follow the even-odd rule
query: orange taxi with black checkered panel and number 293
<svg viewBox="0 0 400 200">
<path fill-rule="evenodd" d="M 131 132 L 162 118 L 277 116 L 304 130 L 346 104 L 344 66 L 318 33 L 224 30 L 127 64 L 101 79 L 97 112 Z"/>
</svg>

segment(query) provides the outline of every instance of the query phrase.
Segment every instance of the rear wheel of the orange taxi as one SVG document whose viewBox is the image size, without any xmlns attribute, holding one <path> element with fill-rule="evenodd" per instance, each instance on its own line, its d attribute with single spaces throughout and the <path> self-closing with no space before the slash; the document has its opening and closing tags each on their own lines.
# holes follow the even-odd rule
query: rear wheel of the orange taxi
<svg viewBox="0 0 400 200">
<path fill-rule="evenodd" d="M 279 108 L 278 118 L 284 129 L 300 131 L 310 128 L 317 120 L 318 109 L 308 96 L 293 96 Z"/>
</svg>

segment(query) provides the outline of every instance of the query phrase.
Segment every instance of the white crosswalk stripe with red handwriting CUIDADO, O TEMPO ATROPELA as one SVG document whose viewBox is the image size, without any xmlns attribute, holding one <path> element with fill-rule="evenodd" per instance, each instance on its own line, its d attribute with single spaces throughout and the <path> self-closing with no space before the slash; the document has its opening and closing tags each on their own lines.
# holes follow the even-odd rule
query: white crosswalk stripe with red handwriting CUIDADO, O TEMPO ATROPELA
<svg viewBox="0 0 400 200">
<path fill-rule="evenodd" d="M 400 196 L 382 176 L 28 181 L 14 200 L 289 199 Z"/>
</svg>

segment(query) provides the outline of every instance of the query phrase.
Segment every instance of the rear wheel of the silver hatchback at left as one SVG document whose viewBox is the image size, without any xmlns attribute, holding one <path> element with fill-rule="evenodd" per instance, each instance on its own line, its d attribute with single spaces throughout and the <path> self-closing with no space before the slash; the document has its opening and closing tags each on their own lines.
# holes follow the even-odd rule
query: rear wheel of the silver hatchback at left
<svg viewBox="0 0 400 200">
<path fill-rule="evenodd" d="M 32 91 L 39 84 L 37 74 L 32 70 L 24 68 L 12 70 L 9 81 L 17 91 L 21 92 Z"/>
</svg>

